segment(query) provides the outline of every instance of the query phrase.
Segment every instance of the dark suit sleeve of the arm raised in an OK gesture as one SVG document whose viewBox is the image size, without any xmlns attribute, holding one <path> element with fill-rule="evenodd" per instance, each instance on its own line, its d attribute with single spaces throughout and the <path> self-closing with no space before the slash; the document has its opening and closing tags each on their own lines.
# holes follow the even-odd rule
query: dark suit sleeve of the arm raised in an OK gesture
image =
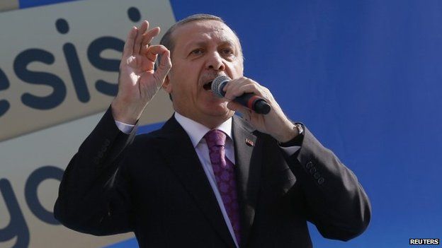
<svg viewBox="0 0 442 248">
<path fill-rule="evenodd" d="M 129 184 L 120 160 L 134 137 L 135 129 L 131 134 L 118 129 L 109 108 L 64 171 L 54 207 L 57 220 L 93 235 L 132 230 Z"/>
</svg>

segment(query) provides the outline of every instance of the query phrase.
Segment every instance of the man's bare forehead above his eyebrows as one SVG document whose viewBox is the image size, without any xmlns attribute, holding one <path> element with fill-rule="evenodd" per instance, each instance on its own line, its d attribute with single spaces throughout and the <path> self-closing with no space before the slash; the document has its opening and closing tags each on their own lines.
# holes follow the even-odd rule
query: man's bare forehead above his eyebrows
<svg viewBox="0 0 442 248">
<path fill-rule="evenodd" d="M 218 20 L 195 20 L 183 24 L 174 30 L 172 34 L 175 48 L 184 47 L 193 42 L 207 42 L 214 40 L 217 42 L 232 42 L 239 46 L 237 35 Z"/>
</svg>

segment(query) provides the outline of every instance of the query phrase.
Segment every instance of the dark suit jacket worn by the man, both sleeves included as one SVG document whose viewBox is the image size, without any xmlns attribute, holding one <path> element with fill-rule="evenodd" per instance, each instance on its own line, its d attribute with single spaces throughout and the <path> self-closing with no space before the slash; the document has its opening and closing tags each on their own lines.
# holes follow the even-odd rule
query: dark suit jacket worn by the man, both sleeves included
<svg viewBox="0 0 442 248">
<path fill-rule="evenodd" d="M 291 156 L 239 117 L 232 129 L 240 247 L 312 247 L 307 220 L 331 239 L 348 240 L 365 230 L 370 203 L 363 188 L 308 129 Z M 106 112 L 64 172 L 55 218 L 93 235 L 135 232 L 140 247 L 234 247 L 176 119 L 158 131 L 134 133 L 120 132 Z"/>
</svg>

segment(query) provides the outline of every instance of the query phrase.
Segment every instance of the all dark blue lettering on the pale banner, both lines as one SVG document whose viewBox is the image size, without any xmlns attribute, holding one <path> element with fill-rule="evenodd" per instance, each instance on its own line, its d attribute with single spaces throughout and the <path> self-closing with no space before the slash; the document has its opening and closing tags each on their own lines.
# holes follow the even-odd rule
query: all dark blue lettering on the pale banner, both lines
<svg viewBox="0 0 442 248">
<path fill-rule="evenodd" d="M 131 7 L 128 9 L 128 17 L 130 20 L 137 22 L 140 20 L 140 11 Z M 62 35 L 69 33 L 69 23 L 64 18 L 55 20 L 55 28 Z M 101 71 L 118 72 L 120 60 L 106 59 L 101 57 L 101 53 L 113 49 L 117 52 L 123 52 L 124 41 L 117 37 L 98 37 L 93 40 L 87 48 L 87 57 L 92 66 Z M 77 49 L 74 44 L 67 42 L 63 45 L 64 59 L 67 61 L 69 73 L 74 85 L 77 99 L 80 102 L 89 102 L 90 94 L 86 84 L 86 79 L 81 67 Z M 56 58 L 52 52 L 45 49 L 29 48 L 19 52 L 13 60 L 13 71 L 17 78 L 23 83 L 33 85 L 44 85 L 52 88 L 49 95 L 39 96 L 27 92 L 21 95 L 21 102 L 27 107 L 37 110 L 51 110 L 58 107 L 67 96 L 67 86 L 59 76 L 45 72 L 28 69 L 32 63 L 42 63 L 47 66 L 54 64 Z M 106 82 L 97 80 L 95 83 L 96 90 L 103 95 L 116 95 L 118 90 L 117 82 Z M 6 73 L 0 68 L 0 91 L 6 91 L 10 88 L 10 81 Z M 8 100 L 0 99 L 0 117 L 2 117 L 10 109 Z M 45 165 L 34 170 L 26 180 L 24 198 L 26 204 L 33 215 L 44 223 L 50 225 L 60 225 L 53 217 L 52 211 L 48 211 L 42 206 L 38 199 L 38 187 L 46 179 L 56 179 L 61 181 L 63 170 L 52 165 Z M 0 229 L 0 242 L 13 240 L 16 237 L 16 244 L 13 247 L 28 247 L 30 242 L 30 232 L 26 219 L 24 218 L 21 206 L 16 198 L 11 183 L 6 178 L 0 179 L 0 194 L 3 196 L 6 205 L 6 211 L 11 216 L 10 222 L 4 228 Z"/>
</svg>

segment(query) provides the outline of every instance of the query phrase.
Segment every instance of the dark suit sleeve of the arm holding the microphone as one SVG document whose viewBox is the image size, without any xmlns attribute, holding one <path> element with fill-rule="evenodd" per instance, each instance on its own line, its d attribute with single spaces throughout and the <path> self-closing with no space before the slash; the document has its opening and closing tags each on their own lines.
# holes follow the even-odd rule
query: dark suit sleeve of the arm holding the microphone
<svg viewBox="0 0 442 248">
<path fill-rule="evenodd" d="M 304 191 L 307 219 L 330 239 L 360 235 L 370 222 L 371 206 L 356 175 L 307 128 L 300 145 L 287 160 Z"/>
</svg>

